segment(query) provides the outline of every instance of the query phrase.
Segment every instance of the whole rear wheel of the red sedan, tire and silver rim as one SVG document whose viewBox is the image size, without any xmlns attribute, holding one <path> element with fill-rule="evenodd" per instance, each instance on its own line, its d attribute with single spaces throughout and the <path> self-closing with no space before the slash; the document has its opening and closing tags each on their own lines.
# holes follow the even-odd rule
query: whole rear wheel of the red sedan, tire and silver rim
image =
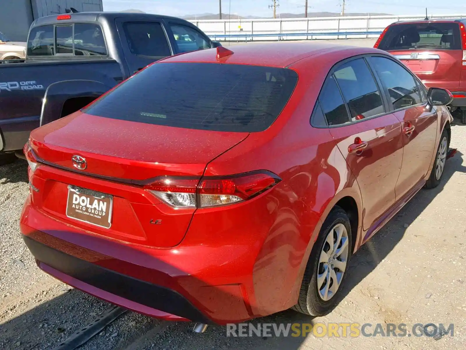
<svg viewBox="0 0 466 350">
<path fill-rule="evenodd" d="M 351 246 L 348 215 L 337 206 L 325 219 L 312 249 L 294 310 L 323 316 L 336 307 L 348 270 Z"/>
</svg>

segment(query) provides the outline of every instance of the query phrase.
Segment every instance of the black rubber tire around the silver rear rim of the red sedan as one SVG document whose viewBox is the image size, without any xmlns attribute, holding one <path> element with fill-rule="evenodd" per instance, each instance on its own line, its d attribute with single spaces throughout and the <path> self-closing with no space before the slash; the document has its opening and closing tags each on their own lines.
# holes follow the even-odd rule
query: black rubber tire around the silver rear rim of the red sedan
<svg viewBox="0 0 466 350">
<path fill-rule="evenodd" d="M 348 258 L 346 269 L 335 295 L 328 301 L 324 301 L 318 292 L 317 287 L 317 269 L 319 267 L 319 259 L 326 243 L 327 235 L 337 224 L 343 224 L 348 232 Z M 352 245 L 351 245 L 351 225 L 347 213 L 340 207 L 336 206 L 332 209 L 329 216 L 325 219 L 319 237 L 312 248 L 309 256 L 308 265 L 304 272 L 302 279 L 301 290 L 297 304 L 292 309 L 301 312 L 305 315 L 323 316 L 329 314 L 338 305 L 339 296 L 343 290 L 344 281 L 348 274 L 349 259 L 351 258 Z"/>
</svg>

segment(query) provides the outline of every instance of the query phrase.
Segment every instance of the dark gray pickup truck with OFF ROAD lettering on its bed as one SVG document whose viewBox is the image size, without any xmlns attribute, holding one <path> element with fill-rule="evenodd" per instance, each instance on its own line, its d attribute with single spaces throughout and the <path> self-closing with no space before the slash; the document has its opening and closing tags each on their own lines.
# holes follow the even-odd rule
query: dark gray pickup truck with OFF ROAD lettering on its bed
<svg viewBox="0 0 466 350">
<path fill-rule="evenodd" d="M 82 12 L 37 19 L 25 62 L 0 64 L 0 165 L 20 154 L 31 130 L 81 109 L 149 63 L 217 46 L 175 17 Z"/>
</svg>

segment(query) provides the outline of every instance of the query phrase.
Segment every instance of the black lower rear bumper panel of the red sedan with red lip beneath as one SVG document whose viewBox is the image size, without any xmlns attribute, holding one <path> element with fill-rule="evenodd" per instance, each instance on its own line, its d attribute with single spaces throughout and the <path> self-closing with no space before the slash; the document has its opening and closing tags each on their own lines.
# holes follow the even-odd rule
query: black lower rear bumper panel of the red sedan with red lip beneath
<svg viewBox="0 0 466 350">
<path fill-rule="evenodd" d="M 39 231 L 32 234 L 36 238 L 43 235 Z M 31 236 L 23 236 L 23 239 L 42 270 L 77 289 L 151 317 L 215 323 L 174 290 L 78 259 Z M 73 248 L 66 242 L 62 244 Z"/>
</svg>

